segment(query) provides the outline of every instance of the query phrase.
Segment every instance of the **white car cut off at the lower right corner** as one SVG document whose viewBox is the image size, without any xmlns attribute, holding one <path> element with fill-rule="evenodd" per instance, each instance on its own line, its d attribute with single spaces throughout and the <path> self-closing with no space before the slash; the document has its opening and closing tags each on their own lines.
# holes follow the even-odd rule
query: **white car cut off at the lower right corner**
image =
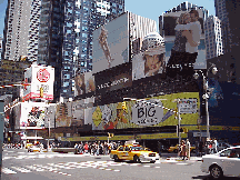
<svg viewBox="0 0 240 180">
<path fill-rule="evenodd" d="M 240 177 L 240 146 L 202 156 L 201 171 L 210 173 L 212 179 Z"/>
</svg>

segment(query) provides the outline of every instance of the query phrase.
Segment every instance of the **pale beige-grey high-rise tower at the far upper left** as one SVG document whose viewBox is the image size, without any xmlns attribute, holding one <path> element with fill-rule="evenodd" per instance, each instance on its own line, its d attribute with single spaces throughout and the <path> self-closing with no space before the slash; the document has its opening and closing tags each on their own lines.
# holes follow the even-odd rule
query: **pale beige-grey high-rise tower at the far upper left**
<svg viewBox="0 0 240 180">
<path fill-rule="evenodd" d="M 2 59 L 17 61 L 22 56 L 30 56 L 31 61 L 37 59 L 40 6 L 40 0 L 8 1 Z"/>
</svg>

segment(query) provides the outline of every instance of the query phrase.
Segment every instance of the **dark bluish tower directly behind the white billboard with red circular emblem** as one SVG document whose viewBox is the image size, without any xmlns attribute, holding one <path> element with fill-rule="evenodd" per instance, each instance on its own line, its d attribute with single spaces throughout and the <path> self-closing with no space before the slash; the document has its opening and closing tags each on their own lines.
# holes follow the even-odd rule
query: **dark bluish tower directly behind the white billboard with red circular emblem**
<svg viewBox="0 0 240 180">
<path fill-rule="evenodd" d="M 62 46 L 66 0 L 41 1 L 41 16 L 39 27 L 38 64 L 54 68 L 53 99 L 58 101 L 61 90 Z"/>
</svg>

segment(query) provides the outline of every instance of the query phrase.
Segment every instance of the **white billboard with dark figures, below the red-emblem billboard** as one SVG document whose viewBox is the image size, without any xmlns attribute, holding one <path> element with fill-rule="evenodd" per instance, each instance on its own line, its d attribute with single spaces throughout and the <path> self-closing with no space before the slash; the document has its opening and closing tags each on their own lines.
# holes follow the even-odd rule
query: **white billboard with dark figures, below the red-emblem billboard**
<svg viewBox="0 0 240 180">
<path fill-rule="evenodd" d="M 20 129 L 43 129 L 46 102 L 20 102 L 21 118 Z"/>
</svg>

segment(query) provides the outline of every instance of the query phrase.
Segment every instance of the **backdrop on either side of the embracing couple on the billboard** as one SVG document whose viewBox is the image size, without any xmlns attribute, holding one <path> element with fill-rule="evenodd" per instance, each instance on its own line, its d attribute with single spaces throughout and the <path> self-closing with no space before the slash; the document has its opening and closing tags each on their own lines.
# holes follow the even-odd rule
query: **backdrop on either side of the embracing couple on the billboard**
<svg viewBox="0 0 240 180">
<path fill-rule="evenodd" d="M 181 13 L 186 13 L 189 11 L 178 11 L 178 12 L 170 12 L 164 13 L 162 16 L 162 32 L 166 42 L 166 60 L 169 61 L 171 56 L 171 50 L 176 40 L 176 26 L 178 24 L 179 17 Z M 203 29 L 203 13 L 202 10 L 198 9 L 199 12 L 199 22 L 201 24 L 201 36 L 200 36 L 200 44 L 198 46 L 198 57 L 196 59 L 194 69 L 207 69 L 207 61 L 206 61 L 206 42 L 204 42 L 204 29 Z"/>
</svg>

